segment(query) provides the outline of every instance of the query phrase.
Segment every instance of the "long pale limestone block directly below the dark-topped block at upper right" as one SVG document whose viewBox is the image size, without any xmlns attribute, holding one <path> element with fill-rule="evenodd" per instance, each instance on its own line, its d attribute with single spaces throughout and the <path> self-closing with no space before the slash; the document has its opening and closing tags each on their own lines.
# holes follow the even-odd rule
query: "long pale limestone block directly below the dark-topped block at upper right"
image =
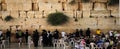
<svg viewBox="0 0 120 49">
<path fill-rule="evenodd" d="M 91 16 L 110 16 L 110 12 L 107 10 L 93 10 L 91 11 Z"/>
</svg>

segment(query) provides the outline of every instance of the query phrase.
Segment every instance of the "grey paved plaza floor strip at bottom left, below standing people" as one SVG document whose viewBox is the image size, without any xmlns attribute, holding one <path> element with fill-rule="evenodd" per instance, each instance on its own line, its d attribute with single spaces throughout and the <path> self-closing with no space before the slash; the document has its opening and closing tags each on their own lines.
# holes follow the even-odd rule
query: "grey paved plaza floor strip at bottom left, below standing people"
<svg viewBox="0 0 120 49">
<path fill-rule="evenodd" d="M 42 47 L 42 46 L 38 46 L 38 47 L 34 47 L 33 45 L 29 48 L 28 45 L 26 44 L 22 44 L 22 46 L 19 47 L 18 43 L 11 43 L 10 45 L 6 45 L 5 48 L 1 48 L 0 49 L 64 49 L 63 47 Z"/>
</svg>

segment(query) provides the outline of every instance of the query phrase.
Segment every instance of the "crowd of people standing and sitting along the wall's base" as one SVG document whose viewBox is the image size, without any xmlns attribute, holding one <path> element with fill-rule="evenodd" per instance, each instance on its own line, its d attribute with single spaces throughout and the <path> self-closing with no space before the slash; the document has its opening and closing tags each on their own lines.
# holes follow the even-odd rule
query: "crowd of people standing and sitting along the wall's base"
<svg viewBox="0 0 120 49">
<path fill-rule="evenodd" d="M 108 31 L 107 34 L 103 33 L 102 30 L 97 29 L 95 34 L 92 34 L 90 28 L 86 31 L 82 29 L 76 29 L 73 33 L 59 32 L 57 29 L 53 32 L 50 30 L 42 30 L 41 34 L 38 30 L 33 31 L 32 34 L 29 30 L 23 32 L 22 30 L 16 30 L 16 39 L 19 45 L 23 43 L 23 38 L 25 38 L 25 43 L 29 46 L 31 43 L 34 47 L 40 46 L 52 47 L 54 41 L 59 41 L 63 39 L 67 42 L 70 47 L 75 49 L 85 49 L 85 47 L 94 49 L 95 47 L 102 47 L 102 49 L 111 49 L 112 47 L 120 46 L 120 33 L 118 31 Z M 7 29 L 5 35 L 3 35 L 2 30 L 0 30 L 0 41 L 8 39 L 11 42 L 11 31 Z M 2 42 L 0 42 L 1 44 Z"/>
</svg>

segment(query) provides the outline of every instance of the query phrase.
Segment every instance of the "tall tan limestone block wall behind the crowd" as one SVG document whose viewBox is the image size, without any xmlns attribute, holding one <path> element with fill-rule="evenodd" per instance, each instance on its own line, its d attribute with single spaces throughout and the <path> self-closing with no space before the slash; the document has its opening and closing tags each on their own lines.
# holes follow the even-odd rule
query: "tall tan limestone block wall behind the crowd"
<svg viewBox="0 0 120 49">
<path fill-rule="evenodd" d="M 71 33 L 75 29 L 104 31 L 120 29 L 119 5 L 108 6 L 108 0 L 81 1 L 71 5 L 71 0 L 0 0 L 0 29 L 47 29 L 66 31 Z M 44 12 L 43 12 L 44 11 Z M 53 12 L 63 12 L 70 17 L 67 24 L 51 26 L 46 22 L 47 15 Z M 110 18 L 110 14 L 115 18 Z M 10 22 L 4 21 L 7 15 L 14 17 Z M 91 17 L 90 17 L 91 16 Z M 76 22 L 74 17 L 77 17 Z"/>
</svg>

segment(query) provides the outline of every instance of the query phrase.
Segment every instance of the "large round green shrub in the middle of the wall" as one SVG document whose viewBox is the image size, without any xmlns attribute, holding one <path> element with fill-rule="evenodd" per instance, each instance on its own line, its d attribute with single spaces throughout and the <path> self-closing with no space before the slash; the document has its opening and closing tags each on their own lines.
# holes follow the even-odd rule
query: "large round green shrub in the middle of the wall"
<svg viewBox="0 0 120 49">
<path fill-rule="evenodd" d="M 53 26 L 62 25 L 68 22 L 69 17 L 63 13 L 56 12 L 48 15 L 47 22 Z"/>
</svg>

